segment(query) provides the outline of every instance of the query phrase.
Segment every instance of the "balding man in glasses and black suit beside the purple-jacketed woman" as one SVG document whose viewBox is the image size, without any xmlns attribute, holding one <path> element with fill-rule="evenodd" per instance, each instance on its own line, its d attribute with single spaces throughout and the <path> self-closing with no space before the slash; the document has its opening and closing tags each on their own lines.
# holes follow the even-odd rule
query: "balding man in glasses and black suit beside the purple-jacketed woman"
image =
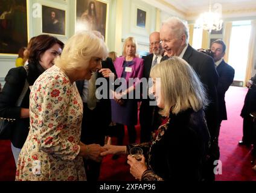
<svg viewBox="0 0 256 193">
<path fill-rule="evenodd" d="M 149 36 L 149 44 L 152 48 L 152 54 L 149 54 L 144 59 L 143 77 L 149 80 L 150 69 L 162 59 L 162 46 L 160 44 L 159 32 L 155 31 Z M 143 89 L 143 88 L 142 88 Z M 141 143 L 150 141 L 150 133 L 153 131 L 153 110 L 155 106 L 150 106 L 150 98 L 142 99 L 141 107 L 139 109 L 139 122 L 141 125 Z"/>
</svg>

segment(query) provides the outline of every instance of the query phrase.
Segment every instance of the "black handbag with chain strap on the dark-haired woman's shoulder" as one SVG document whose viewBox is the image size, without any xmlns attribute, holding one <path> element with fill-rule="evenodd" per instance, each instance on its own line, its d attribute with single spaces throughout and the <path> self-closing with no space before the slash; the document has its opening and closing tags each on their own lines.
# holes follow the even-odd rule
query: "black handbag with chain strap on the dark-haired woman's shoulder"
<svg viewBox="0 0 256 193">
<path fill-rule="evenodd" d="M 26 65 L 24 66 L 24 68 L 27 71 L 27 75 L 28 75 L 28 66 Z M 21 106 L 24 96 L 27 93 L 28 87 L 29 87 L 29 84 L 26 78 L 21 95 L 19 96 L 16 102 L 16 107 Z M 7 140 L 11 138 L 11 130 L 12 130 L 11 128 L 13 127 L 13 124 L 14 124 L 13 121 L 16 121 L 16 119 L 0 117 L 0 139 Z"/>
</svg>

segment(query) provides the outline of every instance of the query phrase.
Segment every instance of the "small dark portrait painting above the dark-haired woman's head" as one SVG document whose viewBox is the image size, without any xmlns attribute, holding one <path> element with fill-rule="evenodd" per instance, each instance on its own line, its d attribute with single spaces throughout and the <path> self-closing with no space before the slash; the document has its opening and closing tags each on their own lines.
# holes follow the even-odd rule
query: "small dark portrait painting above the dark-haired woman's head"
<svg viewBox="0 0 256 193">
<path fill-rule="evenodd" d="M 42 5 L 42 33 L 65 35 L 65 10 Z"/>
</svg>

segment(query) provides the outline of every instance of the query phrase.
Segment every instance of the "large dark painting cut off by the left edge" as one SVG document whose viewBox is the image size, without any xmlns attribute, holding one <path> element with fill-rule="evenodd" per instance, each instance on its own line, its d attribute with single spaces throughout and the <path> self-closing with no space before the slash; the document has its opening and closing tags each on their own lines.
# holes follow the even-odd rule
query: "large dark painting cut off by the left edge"
<svg viewBox="0 0 256 193">
<path fill-rule="evenodd" d="M 18 54 L 28 44 L 27 1 L 1 0 L 0 53 Z"/>
</svg>

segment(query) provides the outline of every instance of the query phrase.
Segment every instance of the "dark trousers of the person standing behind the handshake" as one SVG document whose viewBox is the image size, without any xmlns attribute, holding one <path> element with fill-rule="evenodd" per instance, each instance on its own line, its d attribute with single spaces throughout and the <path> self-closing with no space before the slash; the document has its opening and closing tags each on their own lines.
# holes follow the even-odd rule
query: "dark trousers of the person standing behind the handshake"
<svg viewBox="0 0 256 193">
<path fill-rule="evenodd" d="M 104 145 L 105 134 L 108 125 L 103 120 L 100 112 L 101 109 L 95 108 L 90 110 L 87 104 L 83 104 L 83 121 L 82 121 L 82 133 L 81 141 L 86 144 L 100 144 Z M 88 181 L 97 181 L 100 176 L 101 163 L 95 162 L 94 160 L 85 160 L 85 171 Z"/>
</svg>

